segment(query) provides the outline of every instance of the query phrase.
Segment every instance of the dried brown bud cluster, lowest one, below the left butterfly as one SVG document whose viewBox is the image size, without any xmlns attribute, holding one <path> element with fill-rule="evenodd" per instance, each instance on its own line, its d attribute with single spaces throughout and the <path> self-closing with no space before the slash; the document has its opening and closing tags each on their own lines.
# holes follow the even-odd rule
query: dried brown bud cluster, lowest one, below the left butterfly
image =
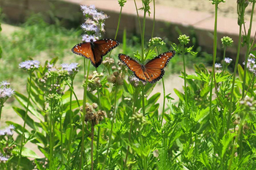
<svg viewBox="0 0 256 170">
<path fill-rule="evenodd" d="M 99 121 L 103 120 L 104 117 L 106 116 L 105 111 L 98 110 L 95 111 L 94 109 L 97 109 L 98 105 L 93 103 L 93 104 L 88 104 L 86 103 L 86 122 L 91 122 L 92 125 L 97 125 L 99 124 Z M 83 112 L 83 110 L 81 110 Z"/>
</svg>

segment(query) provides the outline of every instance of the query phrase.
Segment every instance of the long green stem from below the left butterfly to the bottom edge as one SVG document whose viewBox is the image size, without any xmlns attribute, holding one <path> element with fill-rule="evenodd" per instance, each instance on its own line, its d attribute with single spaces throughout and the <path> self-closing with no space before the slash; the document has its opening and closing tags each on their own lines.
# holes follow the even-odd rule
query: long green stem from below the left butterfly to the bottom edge
<svg viewBox="0 0 256 170">
<path fill-rule="evenodd" d="M 88 77 L 90 72 L 90 60 L 88 60 L 88 69 L 86 75 L 86 58 L 83 60 L 84 65 L 84 74 L 86 75 L 86 85 L 83 87 L 83 115 L 82 115 L 82 142 L 81 142 L 81 158 L 80 158 L 80 167 L 79 169 L 83 169 L 83 152 L 84 152 L 84 120 L 86 119 L 86 91 L 88 85 Z"/>
</svg>

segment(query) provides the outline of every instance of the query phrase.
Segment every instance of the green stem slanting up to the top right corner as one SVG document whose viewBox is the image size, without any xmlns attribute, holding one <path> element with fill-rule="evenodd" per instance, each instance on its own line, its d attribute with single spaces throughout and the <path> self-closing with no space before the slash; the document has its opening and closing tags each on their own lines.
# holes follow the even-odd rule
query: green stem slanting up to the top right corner
<svg viewBox="0 0 256 170">
<path fill-rule="evenodd" d="M 249 57 L 249 50 L 251 48 L 250 46 L 250 39 L 251 39 L 251 31 L 252 31 L 252 19 L 253 19 L 253 14 L 255 10 L 255 2 L 252 2 L 252 12 L 251 12 L 251 18 L 250 18 L 250 23 L 249 23 L 249 29 L 248 29 L 248 34 L 246 36 L 246 54 L 245 54 L 245 64 L 244 64 L 244 80 L 243 80 L 243 90 L 242 90 L 242 98 L 244 98 L 244 91 L 245 91 L 245 83 L 246 83 L 246 72 L 247 72 L 247 62 L 248 62 L 248 57 Z"/>
</svg>

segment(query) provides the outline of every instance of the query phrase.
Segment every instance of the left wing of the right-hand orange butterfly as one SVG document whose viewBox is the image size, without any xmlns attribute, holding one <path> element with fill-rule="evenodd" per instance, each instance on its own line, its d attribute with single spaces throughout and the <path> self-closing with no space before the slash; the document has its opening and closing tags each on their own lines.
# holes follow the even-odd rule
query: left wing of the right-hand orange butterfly
<svg viewBox="0 0 256 170">
<path fill-rule="evenodd" d="M 139 80 L 146 82 L 145 74 L 143 73 L 143 69 L 137 61 L 130 58 L 128 55 L 119 54 L 118 55 L 119 60 L 124 63 L 137 77 Z"/>
</svg>

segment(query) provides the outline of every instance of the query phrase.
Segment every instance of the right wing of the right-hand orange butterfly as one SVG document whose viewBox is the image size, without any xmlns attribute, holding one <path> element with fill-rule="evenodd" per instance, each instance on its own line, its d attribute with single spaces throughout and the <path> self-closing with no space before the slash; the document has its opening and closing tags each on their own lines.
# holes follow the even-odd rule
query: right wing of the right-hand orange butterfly
<svg viewBox="0 0 256 170">
<path fill-rule="evenodd" d="M 162 78 L 165 74 L 165 66 L 167 66 L 167 63 L 169 63 L 174 55 L 175 51 L 167 51 L 146 63 L 144 74 L 146 75 L 148 82 L 154 83 Z"/>
</svg>

